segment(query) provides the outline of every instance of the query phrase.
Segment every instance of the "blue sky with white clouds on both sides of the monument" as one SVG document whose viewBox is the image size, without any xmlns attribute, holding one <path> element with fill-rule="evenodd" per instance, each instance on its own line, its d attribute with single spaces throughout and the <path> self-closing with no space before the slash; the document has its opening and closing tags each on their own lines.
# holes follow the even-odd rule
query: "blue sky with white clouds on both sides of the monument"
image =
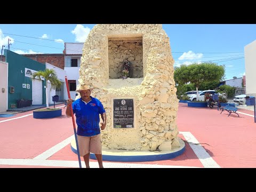
<svg viewBox="0 0 256 192">
<path fill-rule="evenodd" d="M 62 53 L 63 42 L 84 42 L 93 24 L 0 24 L 0 48 L 19 54 Z M 163 24 L 174 66 L 212 61 L 226 79 L 245 75 L 244 46 L 256 39 L 255 24 Z M 32 38 L 33 37 L 33 38 Z"/>
</svg>

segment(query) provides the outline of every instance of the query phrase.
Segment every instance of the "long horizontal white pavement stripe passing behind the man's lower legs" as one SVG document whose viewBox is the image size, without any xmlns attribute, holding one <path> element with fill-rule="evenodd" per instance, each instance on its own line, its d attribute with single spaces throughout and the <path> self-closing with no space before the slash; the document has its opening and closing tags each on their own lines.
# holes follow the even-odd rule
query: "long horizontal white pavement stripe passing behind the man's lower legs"
<svg viewBox="0 0 256 192">
<path fill-rule="evenodd" d="M 27 165 L 27 166 L 53 166 L 53 167 L 77 167 L 78 161 L 57 161 L 42 159 L 0 159 L 1 165 Z M 109 163 L 103 162 L 105 168 L 199 168 L 193 166 L 172 166 L 172 165 L 152 165 L 152 164 L 131 164 L 131 163 Z M 82 167 L 85 167 L 82 162 Z M 90 162 L 91 168 L 99 167 L 98 162 Z"/>
</svg>

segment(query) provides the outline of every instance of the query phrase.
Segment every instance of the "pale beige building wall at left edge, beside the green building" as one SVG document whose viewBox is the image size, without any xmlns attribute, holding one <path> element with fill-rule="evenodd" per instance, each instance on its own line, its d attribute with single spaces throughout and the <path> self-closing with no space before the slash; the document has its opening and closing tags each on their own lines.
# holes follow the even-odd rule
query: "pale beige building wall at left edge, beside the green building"
<svg viewBox="0 0 256 192">
<path fill-rule="evenodd" d="M 8 63 L 0 61 L 0 112 L 6 111 L 7 109 L 7 91 L 8 91 Z"/>
</svg>

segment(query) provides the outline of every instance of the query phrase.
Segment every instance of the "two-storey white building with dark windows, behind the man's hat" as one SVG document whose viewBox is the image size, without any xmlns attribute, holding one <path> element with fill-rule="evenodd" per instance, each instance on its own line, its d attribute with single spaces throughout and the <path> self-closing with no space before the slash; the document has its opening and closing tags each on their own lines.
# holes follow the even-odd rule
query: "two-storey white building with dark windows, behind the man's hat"
<svg viewBox="0 0 256 192">
<path fill-rule="evenodd" d="M 76 98 L 76 85 L 79 79 L 79 68 L 83 54 L 84 43 L 65 43 L 65 67 L 71 99 Z M 65 98 L 68 99 L 67 91 Z"/>
</svg>

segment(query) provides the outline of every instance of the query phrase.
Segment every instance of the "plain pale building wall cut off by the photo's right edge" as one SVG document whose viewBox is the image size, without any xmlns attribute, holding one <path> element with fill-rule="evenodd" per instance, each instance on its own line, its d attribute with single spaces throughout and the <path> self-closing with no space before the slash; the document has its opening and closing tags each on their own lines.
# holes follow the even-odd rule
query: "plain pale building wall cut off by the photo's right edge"
<svg viewBox="0 0 256 192">
<path fill-rule="evenodd" d="M 256 40 L 244 47 L 246 95 L 256 97 Z"/>
</svg>

